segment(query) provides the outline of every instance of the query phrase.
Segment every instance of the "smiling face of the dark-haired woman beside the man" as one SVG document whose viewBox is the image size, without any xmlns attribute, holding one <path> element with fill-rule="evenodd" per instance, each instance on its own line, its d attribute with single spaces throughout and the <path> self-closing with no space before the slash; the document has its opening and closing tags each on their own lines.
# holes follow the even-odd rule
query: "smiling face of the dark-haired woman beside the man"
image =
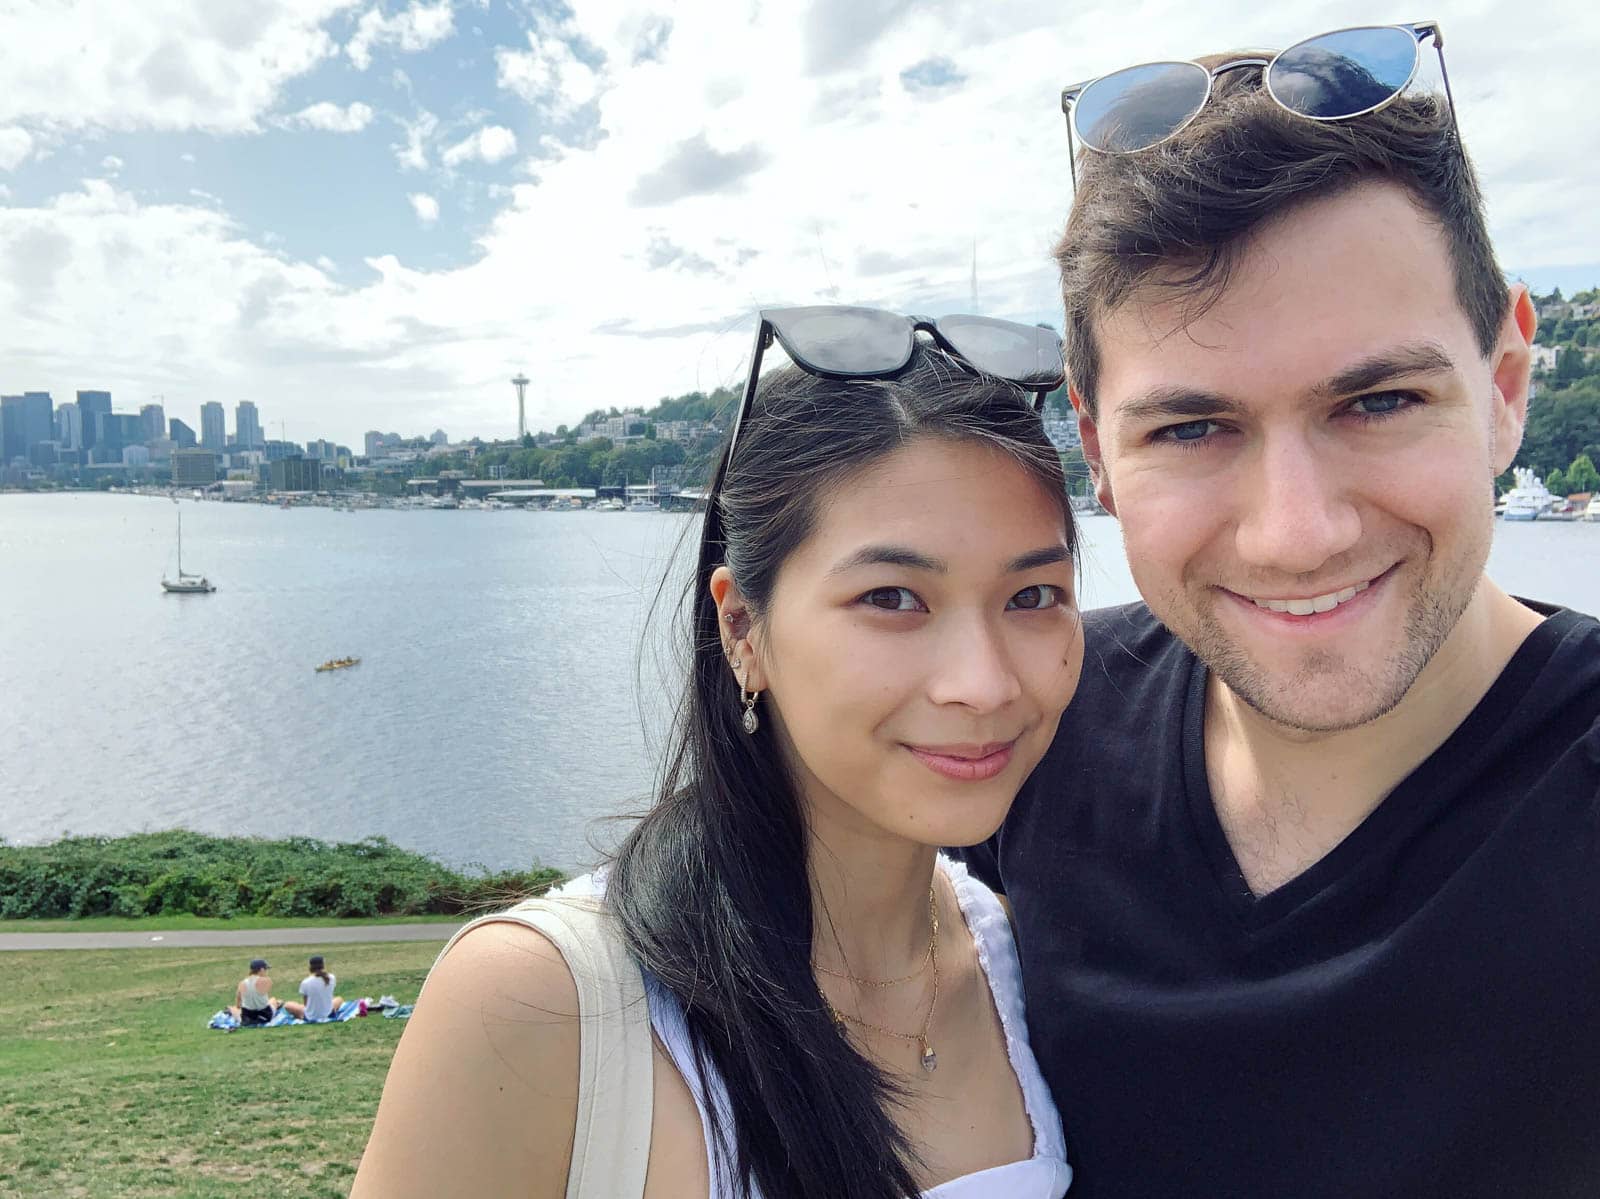
<svg viewBox="0 0 1600 1199">
<path fill-rule="evenodd" d="M 734 648 L 814 824 L 979 842 L 1083 661 L 1061 506 L 981 442 L 915 440 L 822 498 Z"/>
</svg>

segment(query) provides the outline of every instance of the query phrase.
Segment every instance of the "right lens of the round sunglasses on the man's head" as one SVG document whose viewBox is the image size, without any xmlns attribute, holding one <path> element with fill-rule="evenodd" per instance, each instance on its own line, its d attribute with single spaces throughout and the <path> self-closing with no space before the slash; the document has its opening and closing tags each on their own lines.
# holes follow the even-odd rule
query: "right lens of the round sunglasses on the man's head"
<svg viewBox="0 0 1600 1199">
<path fill-rule="evenodd" d="M 1291 112 L 1339 120 L 1394 99 L 1414 70 L 1416 37 L 1410 30 L 1342 29 L 1278 54 L 1267 70 L 1267 88 Z"/>
</svg>

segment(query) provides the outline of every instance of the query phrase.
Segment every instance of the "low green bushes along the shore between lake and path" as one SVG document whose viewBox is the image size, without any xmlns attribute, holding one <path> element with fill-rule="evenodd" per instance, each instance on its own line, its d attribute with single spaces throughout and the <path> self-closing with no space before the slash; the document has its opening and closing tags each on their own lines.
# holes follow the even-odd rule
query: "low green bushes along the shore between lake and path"
<svg viewBox="0 0 1600 1199">
<path fill-rule="evenodd" d="M 565 876 L 461 872 L 386 837 L 206 837 L 141 832 L 0 842 L 0 919 L 77 916 L 418 916 L 539 895 Z"/>
</svg>

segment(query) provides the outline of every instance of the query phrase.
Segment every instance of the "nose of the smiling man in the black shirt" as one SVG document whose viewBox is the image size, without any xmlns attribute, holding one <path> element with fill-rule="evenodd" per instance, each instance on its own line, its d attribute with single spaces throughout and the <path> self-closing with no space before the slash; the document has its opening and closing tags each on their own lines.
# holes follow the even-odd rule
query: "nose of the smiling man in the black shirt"
<svg viewBox="0 0 1600 1199">
<path fill-rule="evenodd" d="M 1275 575 L 1309 575 L 1362 536 L 1350 480 L 1302 432 L 1269 435 L 1238 487 L 1235 546 Z"/>
</svg>

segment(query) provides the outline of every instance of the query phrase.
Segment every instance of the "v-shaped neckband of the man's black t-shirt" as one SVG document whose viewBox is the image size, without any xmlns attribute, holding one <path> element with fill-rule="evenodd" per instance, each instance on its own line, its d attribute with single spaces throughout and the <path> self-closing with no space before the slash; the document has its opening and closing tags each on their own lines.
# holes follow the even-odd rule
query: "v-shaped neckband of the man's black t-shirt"
<svg viewBox="0 0 1600 1199">
<path fill-rule="evenodd" d="M 1480 770 L 1482 757 L 1494 752 L 1498 727 L 1517 711 L 1518 701 L 1528 693 L 1555 647 L 1581 620 L 1566 608 L 1520 602 L 1544 613 L 1546 620 L 1517 647 L 1506 669 L 1490 684 L 1467 719 L 1416 770 L 1400 780 L 1344 840 L 1282 887 L 1261 896 L 1250 890 L 1211 799 L 1205 765 L 1205 690 L 1210 671 L 1198 658 L 1192 658 L 1182 711 L 1184 794 L 1195 840 L 1216 884 L 1216 896 L 1243 932 L 1269 930 L 1330 887 L 1357 874 L 1362 863 L 1371 860 L 1373 855 L 1368 853 L 1371 847 L 1382 845 L 1405 828 L 1432 818 L 1437 804 L 1446 802 L 1454 794 L 1456 780 L 1469 778 Z"/>
</svg>

